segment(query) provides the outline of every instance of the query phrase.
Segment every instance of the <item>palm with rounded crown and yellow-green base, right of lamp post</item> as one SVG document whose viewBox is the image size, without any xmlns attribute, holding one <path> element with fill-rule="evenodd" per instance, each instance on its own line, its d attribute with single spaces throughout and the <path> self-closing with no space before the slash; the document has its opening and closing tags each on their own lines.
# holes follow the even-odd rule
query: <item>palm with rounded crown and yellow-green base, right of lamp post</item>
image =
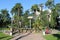
<svg viewBox="0 0 60 40">
<path fill-rule="evenodd" d="M 37 29 L 38 29 L 38 27 L 39 26 L 37 26 L 38 24 L 39 24 L 39 20 L 38 20 L 38 18 L 37 18 L 37 16 L 36 16 L 36 11 L 39 11 L 40 9 L 39 9 L 39 7 L 38 7 L 38 5 L 37 4 L 35 4 L 35 5 L 33 5 L 32 7 L 31 7 L 31 10 L 32 10 L 32 12 L 33 12 L 33 16 L 34 16 L 34 22 L 33 22 L 33 28 L 36 30 L 36 31 L 38 31 Z"/>
</svg>

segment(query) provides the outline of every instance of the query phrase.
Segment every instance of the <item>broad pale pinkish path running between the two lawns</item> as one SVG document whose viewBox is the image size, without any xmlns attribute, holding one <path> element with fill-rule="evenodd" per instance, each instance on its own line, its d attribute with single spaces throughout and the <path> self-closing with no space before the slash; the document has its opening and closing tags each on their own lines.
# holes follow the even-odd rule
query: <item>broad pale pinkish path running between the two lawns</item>
<svg viewBox="0 0 60 40">
<path fill-rule="evenodd" d="M 45 40 L 42 36 L 42 33 L 23 33 L 20 34 L 11 40 Z"/>
</svg>

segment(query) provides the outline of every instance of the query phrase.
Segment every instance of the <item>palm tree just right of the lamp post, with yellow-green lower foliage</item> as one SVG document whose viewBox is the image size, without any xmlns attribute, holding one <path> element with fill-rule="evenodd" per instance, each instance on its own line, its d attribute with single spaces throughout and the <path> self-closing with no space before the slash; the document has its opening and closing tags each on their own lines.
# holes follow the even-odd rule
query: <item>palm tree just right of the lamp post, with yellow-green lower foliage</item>
<svg viewBox="0 0 60 40">
<path fill-rule="evenodd" d="M 39 20 L 38 15 L 36 15 L 36 12 L 40 12 L 39 6 L 35 4 L 31 7 L 31 10 L 34 13 L 34 23 L 33 23 L 34 27 L 33 28 L 35 29 L 35 31 L 38 31 L 40 27 L 40 20 Z"/>
</svg>

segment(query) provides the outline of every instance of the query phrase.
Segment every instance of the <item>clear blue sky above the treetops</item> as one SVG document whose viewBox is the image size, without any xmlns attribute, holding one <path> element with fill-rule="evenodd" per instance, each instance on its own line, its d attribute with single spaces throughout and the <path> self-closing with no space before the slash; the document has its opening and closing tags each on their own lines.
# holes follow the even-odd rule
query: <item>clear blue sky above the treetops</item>
<svg viewBox="0 0 60 40">
<path fill-rule="evenodd" d="M 30 9 L 33 4 L 40 4 L 45 3 L 46 0 L 0 0 L 0 10 L 1 9 L 7 9 L 9 10 L 9 13 L 12 9 L 12 7 L 16 3 L 21 3 L 23 6 L 23 10 Z M 60 0 L 55 0 L 55 3 L 60 3 Z"/>
</svg>

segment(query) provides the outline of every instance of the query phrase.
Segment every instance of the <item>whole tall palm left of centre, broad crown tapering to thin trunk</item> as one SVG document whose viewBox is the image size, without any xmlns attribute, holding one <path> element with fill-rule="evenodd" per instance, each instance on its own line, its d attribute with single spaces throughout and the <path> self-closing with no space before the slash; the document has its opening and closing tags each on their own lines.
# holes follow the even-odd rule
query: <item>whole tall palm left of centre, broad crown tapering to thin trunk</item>
<svg viewBox="0 0 60 40">
<path fill-rule="evenodd" d="M 16 5 L 11 10 L 11 13 L 15 14 L 14 19 L 17 18 L 16 23 L 17 23 L 18 28 L 19 28 L 19 21 L 21 20 L 22 10 L 23 10 L 23 7 L 20 3 L 16 3 Z"/>
</svg>

